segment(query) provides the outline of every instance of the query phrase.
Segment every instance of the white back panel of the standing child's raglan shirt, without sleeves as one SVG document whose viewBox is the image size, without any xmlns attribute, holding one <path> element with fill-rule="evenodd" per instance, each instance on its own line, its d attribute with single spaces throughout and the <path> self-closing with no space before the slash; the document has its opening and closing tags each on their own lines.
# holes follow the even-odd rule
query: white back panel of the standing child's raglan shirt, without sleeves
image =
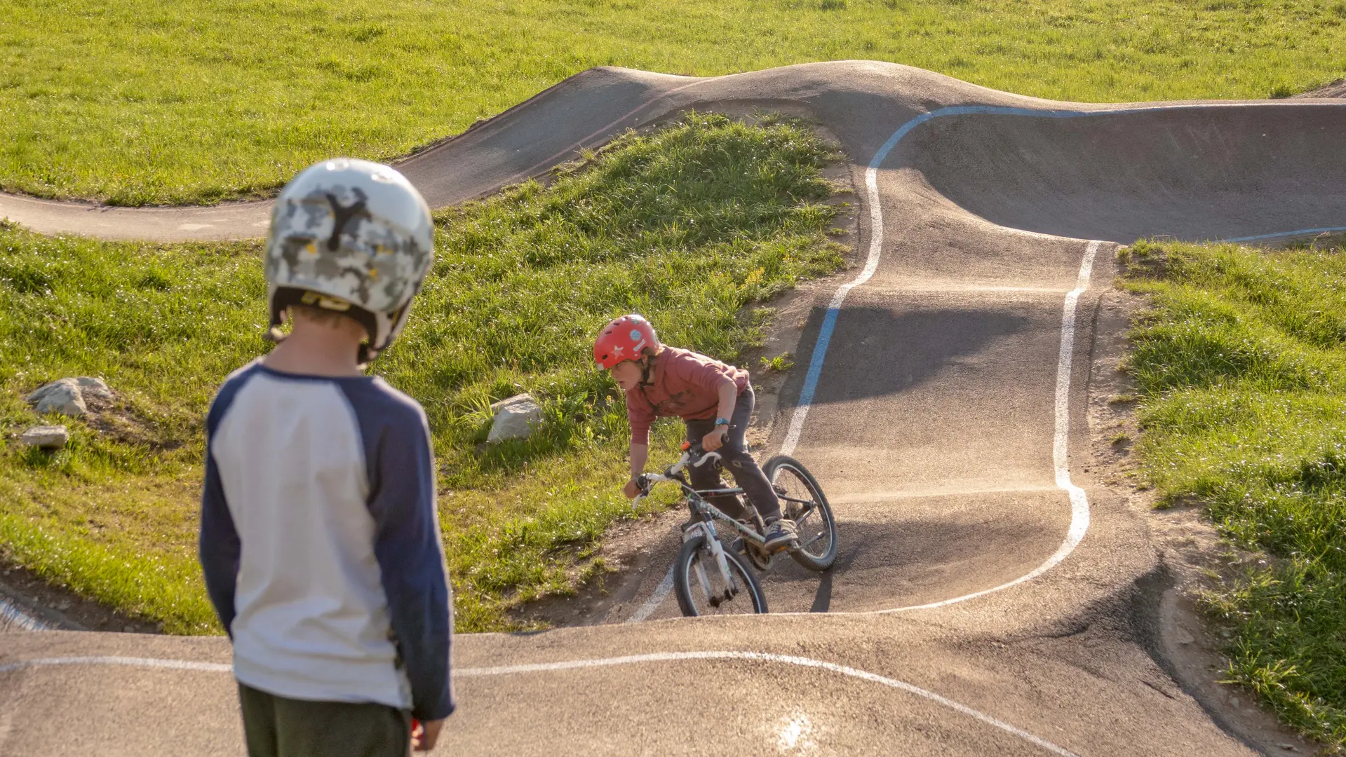
<svg viewBox="0 0 1346 757">
<path fill-rule="evenodd" d="M 242 542 L 238 680 L 293 699 L 411 707 L 374 558 L 359 425 L 342 391 L 258 371 L 211 450 Z"/>
</svg>

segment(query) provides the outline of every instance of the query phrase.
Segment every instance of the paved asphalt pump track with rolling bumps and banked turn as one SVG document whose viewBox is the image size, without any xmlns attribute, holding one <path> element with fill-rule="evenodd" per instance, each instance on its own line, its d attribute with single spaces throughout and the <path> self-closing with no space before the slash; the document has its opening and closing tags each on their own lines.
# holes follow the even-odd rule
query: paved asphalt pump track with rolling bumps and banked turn
<svg viewBox="0 0 1346 757">
<path fill-rule="evenodd" d="M 654 570 L 612 623 L 460 636 L 462 706 L 439 752 L 1254 754 L 1154 652 L 1166 571 L 1143 514 L 1090 477 L 1098 293 L 1139 235 L 1346 225 L 1343 105 L 1066 104 L 870 62 L 708 79 L 596 69 L 402 163 L 444 206 L 688 108 L 783 109 L 841 141 L 861 219 L 848 280 L 863 282 L 829 347 L 826 296 L 809 316 L 767 445 L 786 444 L 825 348 L 794 454 L 836 508 L 833 571 L 778 562 L 769 616 L 674 619 Z M 183 239 L 257 235 L 267 206 L 5 196 L 0 214 Z M 653 620 L 616 623 L 633 614 Z M 223 639 L 3 639 L 0 753 L 241 750 Z"/>
</svg>

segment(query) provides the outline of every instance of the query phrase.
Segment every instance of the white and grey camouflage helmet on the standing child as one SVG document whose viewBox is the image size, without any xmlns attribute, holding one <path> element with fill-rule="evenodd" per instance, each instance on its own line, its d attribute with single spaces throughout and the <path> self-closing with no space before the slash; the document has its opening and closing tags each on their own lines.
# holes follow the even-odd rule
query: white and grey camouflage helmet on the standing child
<svg viewBox="0 0 1346 757">
<path fill-rule="evenodd" d="M 435 260 L 429 207 L 396 169 L 367 160 L 310 165 L 280 192 L 267 234 L 272 335 L 295 304 L 365 325 L 367 363 L 397 337 Z"/>
</svg>

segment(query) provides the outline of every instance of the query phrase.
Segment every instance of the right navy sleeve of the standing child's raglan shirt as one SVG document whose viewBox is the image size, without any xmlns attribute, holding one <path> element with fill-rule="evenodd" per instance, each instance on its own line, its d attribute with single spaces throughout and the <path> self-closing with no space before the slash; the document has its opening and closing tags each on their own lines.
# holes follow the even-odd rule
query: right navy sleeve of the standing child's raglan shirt
<svg viewBox="0 0 1346 757">
<path fill-rule="evenodd" d="M 381 382 L 345 389 L 365 437 L 374 557 L 412 687 L 412 717 L 437 721 L 455 707 L 450 679 L 454 616 L 429 428 L 419 405 Z"/>
</svg>

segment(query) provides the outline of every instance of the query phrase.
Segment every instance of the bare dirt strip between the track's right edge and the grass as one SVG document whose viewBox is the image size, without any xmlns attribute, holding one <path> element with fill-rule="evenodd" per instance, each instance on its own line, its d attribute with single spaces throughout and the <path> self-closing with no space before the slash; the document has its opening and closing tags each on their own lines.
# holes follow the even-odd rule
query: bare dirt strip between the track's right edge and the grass
<svg viewBox="0 0 1346 757">
<path fill-rule="evenodd" d="M 1210 623 L 1197 604 L 1201 592 L 1213 588 L 1219 575 L 1230 575 L 1265 555 L 1234 549 L 1222 539 L 1199 503 L 1156 508 L 1154 492 L 1139 476 L 1132 454 L 1140 438 L 1137 398 L 1121 362 L 1129 354 L 1127 332 L 1132 319 L 1144 308 L 1144 297 L 1112 288 L 1098 301 L 1089 436 L 1098 481 L 1120 493 L 1149 526 L 1151 543 L 1172 582 L 1159 597 L 1155 641 L 1160 662 L 1221 727 L 1249 746 L 1264 754 L 1316 754 L 1322 745 L 1281 726 L 1252 691 L 1219 683 L 1228 667 L 1221 652 L 1228 632 Z"/>
</svg>

